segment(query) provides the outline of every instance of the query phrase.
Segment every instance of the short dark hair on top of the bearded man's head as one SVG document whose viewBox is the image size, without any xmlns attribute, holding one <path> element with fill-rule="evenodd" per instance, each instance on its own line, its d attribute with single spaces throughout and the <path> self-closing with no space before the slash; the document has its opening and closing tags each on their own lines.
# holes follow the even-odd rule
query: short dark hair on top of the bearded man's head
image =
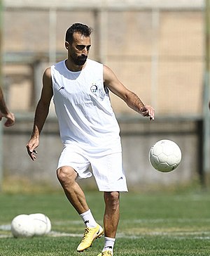
<svg viewBox="0 0 210 256">
<path fill-rule="evenodd" d="M 85 37 L 90 37 L 90 34 L 92 33 L 92 28 L 81 23 L 74 23 L 73 25 L 71 25 L 71 27 L 69 27 L 68 30 L 66 30 L 66 39 L 65 39 L 70 44 L 73 41 L 73 33 L 75 32 L 83 34 Z"/>
</svg>

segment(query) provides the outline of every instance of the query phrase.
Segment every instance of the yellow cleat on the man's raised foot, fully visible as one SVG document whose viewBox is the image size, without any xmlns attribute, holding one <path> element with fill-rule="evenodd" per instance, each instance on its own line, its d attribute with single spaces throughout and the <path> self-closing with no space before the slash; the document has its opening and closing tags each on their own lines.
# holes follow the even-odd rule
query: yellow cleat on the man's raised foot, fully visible
<svg viewBox="0 0 210 256">
<path fill-rule="evenodd" d="M 78 245 L 77 251 L 83 252 L 92 245 L 94 239 L 100 238 L 104 233 L 102 226 L 97 224 L 95 228 L 86 228 L 81 243 Z"/>
</svg>

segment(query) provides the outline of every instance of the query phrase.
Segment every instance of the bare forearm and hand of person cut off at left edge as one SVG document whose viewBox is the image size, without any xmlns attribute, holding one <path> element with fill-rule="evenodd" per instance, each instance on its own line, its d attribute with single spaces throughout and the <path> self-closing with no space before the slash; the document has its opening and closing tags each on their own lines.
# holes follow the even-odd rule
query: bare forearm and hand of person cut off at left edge
<svg viewBox="0 0 210 256">
<path fill-rule="evenodd" d="M 6 127 L 10 127 L 15 124 L 15 115 L 8 110 L 4 101 L 3 91 L 0 87 L 0 121 L 3 117 L 6 118 L 6 122 L 4 123 Z"/>
</svg>

